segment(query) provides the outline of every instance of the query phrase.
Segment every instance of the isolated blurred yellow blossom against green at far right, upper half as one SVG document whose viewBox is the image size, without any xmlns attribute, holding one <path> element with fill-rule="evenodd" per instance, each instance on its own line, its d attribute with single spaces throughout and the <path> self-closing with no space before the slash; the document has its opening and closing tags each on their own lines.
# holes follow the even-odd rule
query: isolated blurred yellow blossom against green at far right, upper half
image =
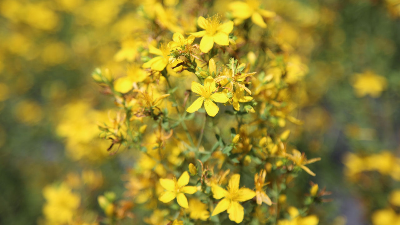
<svg viewBox="0 0 400 225">
<path fill-rule="evenodd" d="M 384 76 L 366 71 L 361 74 L 355 74 L 352 86 L 357 97 L 370 95 L 372 98 L 378 98 L 381 92 L 386 90 L 387 81 Z"/>
</svg>

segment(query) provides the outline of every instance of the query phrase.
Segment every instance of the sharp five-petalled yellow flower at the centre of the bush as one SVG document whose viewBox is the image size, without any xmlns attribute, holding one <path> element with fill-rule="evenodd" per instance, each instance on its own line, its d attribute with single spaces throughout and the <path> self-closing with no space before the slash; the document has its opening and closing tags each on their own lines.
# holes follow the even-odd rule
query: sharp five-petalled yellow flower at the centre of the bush
<svg viewBox="0 0 400 225">
<path fill-rule="evenodd" d="M 227 102 L 229 98 L 226 96 L 224 92 L 216 92 L 217 90 L 215 86 L 214 79 L 209 76 L 206 80 L 204 80 L 204 86 L 199 84 L 198 82 L 192 82 L 192 92 L 198 94 L 200 96 L 197 98 L 188 109 L 187 112 L 196 112 L 199 108 L 201 108 L 204 101 L 204 108 L 206 108 L 206 112 L 211 117 L 215 117 L 218 111 L 220 110 L 218 106 L 214 102 Z M 212 102 L 214 101 L 214 102 Z"/>
</svg>

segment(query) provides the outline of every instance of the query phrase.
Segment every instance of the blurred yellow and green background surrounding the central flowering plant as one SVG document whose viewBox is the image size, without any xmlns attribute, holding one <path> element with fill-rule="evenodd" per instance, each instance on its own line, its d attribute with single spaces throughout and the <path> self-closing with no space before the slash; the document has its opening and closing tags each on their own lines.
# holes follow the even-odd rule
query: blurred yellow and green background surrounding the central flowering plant
<svg viewBox="0 0 400 225">
<path fill-rule="evenodd" d="M 140 52 L 132 34 L 151 29 L 144 15 L 179 31 L 177 13 L 151 9 L 154 2 L 0 1 L 0 224 L 42 223 L 52 183 L 80 187 L 87 217 L 101 211 L 98 195 L 124 192 L 130 162 L 98 139 L 112 100 L 90 74 L 124 71 L 121 62 Z M 229 1 L 182 7 L 194 2 L 225 15 Z M 290 141 L 322 157 L 312 179 L 334 201 L 317 209 L 320 224 L 399 224 L 400 1 L 262 2 L 285 21 L 280 38 L 308 66 L 298 96 L 304 125 Z M 185 21 L 195 25 L 196 15 Z"/>
</svg>

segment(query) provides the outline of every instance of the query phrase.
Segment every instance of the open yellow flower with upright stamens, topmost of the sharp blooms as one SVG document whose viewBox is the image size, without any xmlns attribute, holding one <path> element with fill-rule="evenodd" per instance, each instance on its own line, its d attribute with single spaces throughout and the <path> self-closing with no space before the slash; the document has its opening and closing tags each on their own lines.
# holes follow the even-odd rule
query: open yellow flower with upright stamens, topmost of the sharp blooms
<svg viewBox="0 0 400 225">
<path fill-rule="evenodd" d="M 229 33 L 233 30 L 233 22 L 220 23 L 221 17 L 214 15 L 207 19 L 200 16 L 197 20 L 198 26 L 204 30 L 190 33 L 196 38 L 203 37 L 200 41 L 200 50 L 207 53 L 210 51 L 214 42 L 219 45 L 229 45 Z"/>
</svg>

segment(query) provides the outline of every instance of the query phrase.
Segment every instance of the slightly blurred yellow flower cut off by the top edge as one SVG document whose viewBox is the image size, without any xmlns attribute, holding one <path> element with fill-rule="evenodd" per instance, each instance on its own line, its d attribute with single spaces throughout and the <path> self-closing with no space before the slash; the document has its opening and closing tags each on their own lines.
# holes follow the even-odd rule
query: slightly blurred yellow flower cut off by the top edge
<svg viewBox="0 0 400 225">
<path fill-rule="evenodd" d="M 228 5 L 230 11 L 232 11 L 232 16 L 236 18 L 235 24 L 242 23 L 243 20 L 246 20 L 251 17 L 253 23 L 257 24 L 262 28 L 266 28 L 267 24 L 263 20 L 263 16 L 266 18 L 272 18 L 276 14 L 275 12 L 260 9 L 260 1 L 258 0 L 246 0 L 242 1 L 234 1 Z"/>
</svg>

